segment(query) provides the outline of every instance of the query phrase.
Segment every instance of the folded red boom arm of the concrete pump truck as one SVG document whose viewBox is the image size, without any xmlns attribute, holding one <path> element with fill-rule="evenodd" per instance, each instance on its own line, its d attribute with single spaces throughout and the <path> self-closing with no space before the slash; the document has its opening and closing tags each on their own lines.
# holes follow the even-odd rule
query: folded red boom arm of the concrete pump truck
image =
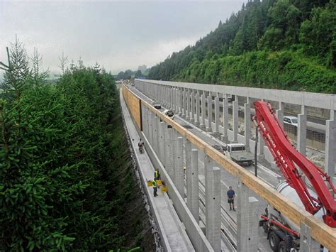
<svg viewBox="0 0 336 252">
<path fill-rule="evenodd" d="M 271 104 L 254 102 L 255 116 L 253 118 L 259 133 L 274 157 L 276 165 L 284 174 L 288 184 L 298 193 L 306 211 L 315 214 L 321 207 L 325 208 L 323 215 L 325 224 L 336 227 L 336 202 L 325 182 L 328 182 L 336 193 L 330 177 L 318 166 L 298 152 L 289 141 L 284 128 L 279 123 Z M 300 168 L 313 186 L 318 199 L 310 195 L 297 168 Z"/>
</svg>

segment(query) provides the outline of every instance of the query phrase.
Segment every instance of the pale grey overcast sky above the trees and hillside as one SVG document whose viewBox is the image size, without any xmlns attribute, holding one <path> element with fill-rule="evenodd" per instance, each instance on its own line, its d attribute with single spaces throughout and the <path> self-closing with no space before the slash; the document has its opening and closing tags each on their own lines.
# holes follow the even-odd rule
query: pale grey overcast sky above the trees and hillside
<svg viewBox="0 0 336 252">
<path fill-rule="evenodd" d="M 106 70 L 151 67 L 214 30 L 244 1 L 1 1 L 0 61 L 15 35 L 43 67 L 58 72 L 58 57 L 97 61 Z"/>
</svg>

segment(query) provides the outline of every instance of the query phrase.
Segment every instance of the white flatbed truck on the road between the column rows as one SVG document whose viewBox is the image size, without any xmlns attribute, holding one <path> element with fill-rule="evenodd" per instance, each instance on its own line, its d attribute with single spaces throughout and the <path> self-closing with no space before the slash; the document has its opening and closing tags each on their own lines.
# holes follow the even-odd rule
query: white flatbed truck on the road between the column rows
<svg viewBox="0 0 336 252">
<path fill-rule="evenodd" d="M 224 150 L 224 154 L 239 165 L 252 165 L 254 160 L 254 155 L 250 151 L 247 151 L 245 144 L 242 143 L 228 144 Z"/>
</svg>

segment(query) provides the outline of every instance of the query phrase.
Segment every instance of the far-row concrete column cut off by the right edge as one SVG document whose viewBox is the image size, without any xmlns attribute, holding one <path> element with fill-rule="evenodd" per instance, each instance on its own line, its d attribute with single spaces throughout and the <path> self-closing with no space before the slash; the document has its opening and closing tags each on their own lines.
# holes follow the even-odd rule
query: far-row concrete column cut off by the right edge
<svg viewBox="0 0 336 252">
<path fill-rule="evenodd" d="M 336 112 L 330 111 L 330 120 L 325 125 L 325 172 L 330 177 L 335 177 L 336 165 Z"/>
</svg>

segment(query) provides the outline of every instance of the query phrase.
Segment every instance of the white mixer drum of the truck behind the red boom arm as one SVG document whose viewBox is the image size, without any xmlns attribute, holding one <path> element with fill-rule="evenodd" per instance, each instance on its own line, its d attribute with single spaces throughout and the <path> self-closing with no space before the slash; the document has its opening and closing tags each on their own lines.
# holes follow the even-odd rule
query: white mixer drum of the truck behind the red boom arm
<svg viewBox="0 0 336 252">
<path fill-rule="evenodd" d="M 298 205 L 298 207 L 300 209 L 305 210 L 305 207 L 303 206 L 303 203 L 301 202 L 300 197 L 298 197 L 298 194 L 296 193 L 296 190 L 293 189 L 293 187 L 289 186 L 289 184 L 287 184 L 286 181 L 281 182 L 277 187 L 276 187 L 276 191 L 280 192 L 281 195 L 284 195 L 287 199 L 289 199 L 290 201 L 294 202 L 295 204 Z M 316 195 L 316 193 L 313 190 L 308 189 L 310 195 L 312 195 L 313 197 L 315 197 L 316 199 L 318 198 L 318 196 Z M 279 213 L 276 212 L 273 207 L 269 206 L 269 216 L 270 214 L 273 214 L 274 216 L 278 217 Z M 286 217 L 284 214 L 281 214 L 281 218 L 286 221 L 286 224 L 289 225 L 289 227 L 294 230 L 297 231 L 298 233 L 300 233 L 300 227 L 296 226 L 296 224 L 293 223 L 293 221 L 291 221 L 288 217 Z M 323 208 L 321 208 L 317 213 L 314 214 L 314 216 L 318 219 L 322 219 L 323 217 Z"/>
</svg>

